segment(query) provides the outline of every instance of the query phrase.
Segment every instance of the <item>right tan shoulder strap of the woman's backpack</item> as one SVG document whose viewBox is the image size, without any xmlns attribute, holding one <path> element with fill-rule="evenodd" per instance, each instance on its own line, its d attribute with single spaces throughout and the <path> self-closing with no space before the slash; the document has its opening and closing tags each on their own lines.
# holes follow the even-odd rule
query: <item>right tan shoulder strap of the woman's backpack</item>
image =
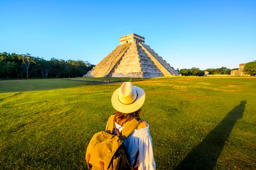
<svg viewBox="0 0 256 170">
<path fill-rule="evenodd" d="M 125 127 L 124 129 L 120 132 L 120 137 L 124 140 L 125 138 L 127 138 L 132 132 L 133 130 L 136 129 L 137 126 L 139 126 L 139 124 L 141 122 L 143 122 L 144 120 L 135 117 L 133 118 Z"/>
</svg>

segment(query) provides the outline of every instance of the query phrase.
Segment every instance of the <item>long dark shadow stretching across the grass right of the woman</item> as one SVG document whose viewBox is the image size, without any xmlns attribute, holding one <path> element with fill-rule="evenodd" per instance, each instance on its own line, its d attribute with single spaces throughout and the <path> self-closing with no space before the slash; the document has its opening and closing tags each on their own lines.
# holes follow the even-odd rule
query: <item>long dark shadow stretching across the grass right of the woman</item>
<svg viewBox="0 0 256 170">
<path fill-rule="evenodd" d="M 245 104 L 243 100 L 234 107 L 175 169 L 213 169 L 235 123 L 243 116 Z"/>
</svg>

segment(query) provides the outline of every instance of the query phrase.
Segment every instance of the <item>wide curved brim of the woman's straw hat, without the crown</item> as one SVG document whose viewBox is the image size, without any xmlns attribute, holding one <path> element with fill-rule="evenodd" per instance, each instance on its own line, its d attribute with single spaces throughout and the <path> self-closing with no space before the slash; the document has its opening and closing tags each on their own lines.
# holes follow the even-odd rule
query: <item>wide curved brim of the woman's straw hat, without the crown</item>
<svg viewBox="0 0 256 170">
<path fill-rule="evenodd" d="M 112 106 L 117 111 L 122 113 L 132 113 L 139 110 L 139 108 L 142 107 L 145 101 L 145 91 L 140 87 L 137 87 L 137 86 L 134 86 L 134 87 L 137 92 L 137 98 L 131 104 L 123 104 L 119 101 L 118 92 L 120 90 L 120 87 L 117 88 L 116 91 L 114 91 L 111 98 L 111 103 L 112 103 Z"/>
</svg>

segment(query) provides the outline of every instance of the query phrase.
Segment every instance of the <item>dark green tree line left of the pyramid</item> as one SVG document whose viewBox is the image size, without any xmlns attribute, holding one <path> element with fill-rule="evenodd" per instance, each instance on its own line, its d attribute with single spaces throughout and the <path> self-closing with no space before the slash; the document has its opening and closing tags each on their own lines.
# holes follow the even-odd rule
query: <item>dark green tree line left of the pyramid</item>
<svg viewBox="0 0 256 170">
<path fill-rule="evenodd" d="M 0 53 L 0 78 L 73 78 L 90 71 L 95 65 L 82 60 L 34 57 L 30 54 Z"/>
</svg>

